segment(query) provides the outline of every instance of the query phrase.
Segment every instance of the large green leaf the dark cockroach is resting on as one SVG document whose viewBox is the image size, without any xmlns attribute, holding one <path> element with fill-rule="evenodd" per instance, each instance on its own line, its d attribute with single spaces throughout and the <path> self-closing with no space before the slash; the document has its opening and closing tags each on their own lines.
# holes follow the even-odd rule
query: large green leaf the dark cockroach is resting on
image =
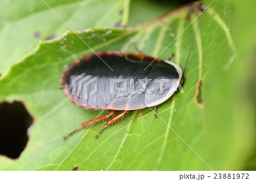
<svg viewBox="0 0 256 181">
<path fill-rule="evenodd" d="M 141 119 L 109 127 L 98 140 L 94 136 L 103 124 L 63 140 L 63 136 L 100 111 L 75 106 L 59 90 L 65 65 L 92 53 L 91 50 L 71 31 L 59 39 L 40 42 L 0 80 L 0 100 L 23 100 L 35 116 L 27 148 L 15 161 L 0 157 L 1 163 L 5 163 L 1 169 L 243 169 L 255 130 L 251 108 L 238 116 L 240 105 L 234 99 L 242 90 L 236 87 L 236 81 L 247 75 L 237 76 L 241 73 L 241 60 L 234 61 L 237 52 L 229 32 L 233 11 L 230 1 L 216 0 L 204 12 L 184 74 L 185 94 L 177 92 L 163 103 L 157 119 L 153 119 L 153 112 L 147 113 Z M 167 59 L 175 53 L 172 61 L 184 68 L 199 19 L 189 24 L 196 16 L 185 6 L 143 26 L 78 33 L 93 50 L 135 52 L 130 46 L 135 42 L 143 53 L 158 56 L 168 47 L 159 58 Z M 198 90 L 200 78 L 203 82 Z M 130 111 L 124 121 L 148 110 Z"/>
</svg>

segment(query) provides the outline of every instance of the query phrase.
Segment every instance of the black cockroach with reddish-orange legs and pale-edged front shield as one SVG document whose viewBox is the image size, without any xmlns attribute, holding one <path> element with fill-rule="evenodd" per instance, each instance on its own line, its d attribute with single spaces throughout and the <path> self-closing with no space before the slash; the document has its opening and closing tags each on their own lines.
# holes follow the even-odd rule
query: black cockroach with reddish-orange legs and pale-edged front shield
<svg viewBox="0 0 256 181">
<path fill-rule="evenodd" d="M 64 140 L 80 128 L 114 116 L 95 136 L 97 139 L 109 125 L 131 110 L 155 107 L 156 117 L 156 107 L 168 100 L 179 85 L 183 84 L 184 70 L 170 60 L 160 60 L 142 53 L 118 51 L 96 52 L 75 61 L 61 75 L 60 82 L 64 94 L 79 107 L 88 110 L 109 110 L 109 113 L 86 121 L 65 136 Z M 123 112 L 115 115 L 117 110 Z"/>
</svg>

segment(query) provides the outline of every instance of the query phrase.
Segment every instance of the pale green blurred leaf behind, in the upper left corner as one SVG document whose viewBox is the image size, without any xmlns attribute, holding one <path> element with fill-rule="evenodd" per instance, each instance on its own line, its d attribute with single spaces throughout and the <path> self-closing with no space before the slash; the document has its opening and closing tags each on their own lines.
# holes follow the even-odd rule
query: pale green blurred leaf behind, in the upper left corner
<svg viewBox="0 0 256 181">
<path fill-rule="evenodd" d="M 44 1 L 73 30 L 127 23 L 129 0 Z M 70 30 L 43 1 L 3 1 L 0 7 L 0 74 L 31 52 L 39 40 Z M 97 10 L 96 10 L 97 9 Z M 122 14 L 120 14 L 122 11 Z M 11 53 L 10 53 L 11 52 Z"/>
</svg>

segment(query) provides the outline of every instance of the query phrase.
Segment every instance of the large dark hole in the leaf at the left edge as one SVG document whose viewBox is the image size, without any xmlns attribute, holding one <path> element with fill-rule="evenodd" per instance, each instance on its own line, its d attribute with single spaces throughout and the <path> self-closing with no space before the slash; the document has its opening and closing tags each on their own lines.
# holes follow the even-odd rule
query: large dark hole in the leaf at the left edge
<svg viewBox="0 0 256 181">
<path fill-rule="evenodd" d="M 0 103 L 0 154 L 19 157 L 27 145 L 32 120 L 22 102 Z"/>
</svg>

